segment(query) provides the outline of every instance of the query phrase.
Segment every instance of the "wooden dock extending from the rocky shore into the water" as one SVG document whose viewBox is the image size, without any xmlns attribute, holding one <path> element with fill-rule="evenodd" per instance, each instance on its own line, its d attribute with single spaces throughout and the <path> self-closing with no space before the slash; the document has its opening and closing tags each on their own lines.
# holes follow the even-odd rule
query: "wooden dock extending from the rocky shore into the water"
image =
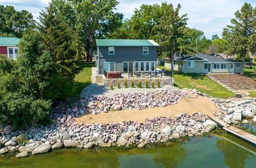
<svg viewBox="0 0 256 168">
<path fill-rule="evenodd" d="M 240 138 L 244 139 L 245 141 L 251 143 L 252 145 L 256 146 L 256 136 L 252 135 L 246 131 L 243 131 L 239 128 L 233 127 L 231 125 L 228 125 L 227 123 L 225 123 L 224 121 L 220 120 L 219 118 L 213 116 L 213 115 L 207 115 L 209 118 L 211 118 L 212 120 L 216 121 L 217 123 L 219 123 L 224 130 L 239 136 Z"/>
</svg>

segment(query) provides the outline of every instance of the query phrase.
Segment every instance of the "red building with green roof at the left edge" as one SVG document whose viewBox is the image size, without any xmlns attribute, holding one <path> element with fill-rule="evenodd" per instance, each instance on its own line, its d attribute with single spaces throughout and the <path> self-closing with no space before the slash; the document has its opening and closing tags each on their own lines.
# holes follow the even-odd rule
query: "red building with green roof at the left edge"
<svg viewBox="0 0 256 168">
<path fill-rule="evenodd" d="M 0 54 L 6 55 L 7 59 L 16 60 L 19 41 L 20 39 L 16 37 L 0 37 Z"/>
</svg>

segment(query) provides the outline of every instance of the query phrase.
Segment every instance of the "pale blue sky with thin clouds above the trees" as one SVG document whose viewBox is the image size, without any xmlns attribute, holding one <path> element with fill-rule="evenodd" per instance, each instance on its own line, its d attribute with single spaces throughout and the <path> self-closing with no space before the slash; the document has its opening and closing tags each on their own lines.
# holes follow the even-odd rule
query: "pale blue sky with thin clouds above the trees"
<svg viewBox="0 0 256 168">
<path fill-rule="evenodd" d="M 51 0 L 0 0 L 0 5 L 12 5 L 16 10 L 28 10 L 36 17 L 44 7 L 48 6 Z M 245 2 L 253 7 L 256 1 L 248 0 L 119 0 L 117 11 L 124 14 L 124 18 L 130 18 L 135 8 L 140 8 L 142 4 L 161 4 L 162 2 L 172 3 L 177 6 L 181 4 L 181 14 L 187 13 L 189 20 L 187 25 L 204 32 L 206 38 L 218 34 L 221 37 L 223 28 L 230 23 L 234 17 L 234 12 L 241 9 Z"/>
</svg>

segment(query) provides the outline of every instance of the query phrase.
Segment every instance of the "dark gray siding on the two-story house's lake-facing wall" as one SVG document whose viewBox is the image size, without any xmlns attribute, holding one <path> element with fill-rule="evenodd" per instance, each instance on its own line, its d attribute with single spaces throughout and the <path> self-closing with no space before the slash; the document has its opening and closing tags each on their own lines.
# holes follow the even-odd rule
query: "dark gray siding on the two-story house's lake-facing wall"
<svg viewBox="0 0 256 168">
<path fill-rule="evenodd" d="M 115 47 L 115 54 L 109 55 L 108 47 L 98 47 L 99 74 L 104 74 L 104 63 L 115 62 L 116 71 L 123 71 L 123 62 L 155 62 L 157 47 L 148 47 L 148 54 L 143 54 L 143 47 Z"/>
</svg>

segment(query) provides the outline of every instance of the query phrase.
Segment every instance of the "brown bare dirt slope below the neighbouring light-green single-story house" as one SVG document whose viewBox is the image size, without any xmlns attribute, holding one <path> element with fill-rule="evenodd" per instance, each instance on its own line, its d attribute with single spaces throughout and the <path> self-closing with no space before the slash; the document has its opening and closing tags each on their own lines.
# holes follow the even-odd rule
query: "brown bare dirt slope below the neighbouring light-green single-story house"
<svg viewBox="0 0 256 168">
<path fill-rule="evenodd" d="M 256 89 L 256 79 L 249 76 L 243 76 L 241 74 L 211 74 L 211 76 L 214 76 L 216 79 L 222 81 L 232 89 Z"/>
</svg>

